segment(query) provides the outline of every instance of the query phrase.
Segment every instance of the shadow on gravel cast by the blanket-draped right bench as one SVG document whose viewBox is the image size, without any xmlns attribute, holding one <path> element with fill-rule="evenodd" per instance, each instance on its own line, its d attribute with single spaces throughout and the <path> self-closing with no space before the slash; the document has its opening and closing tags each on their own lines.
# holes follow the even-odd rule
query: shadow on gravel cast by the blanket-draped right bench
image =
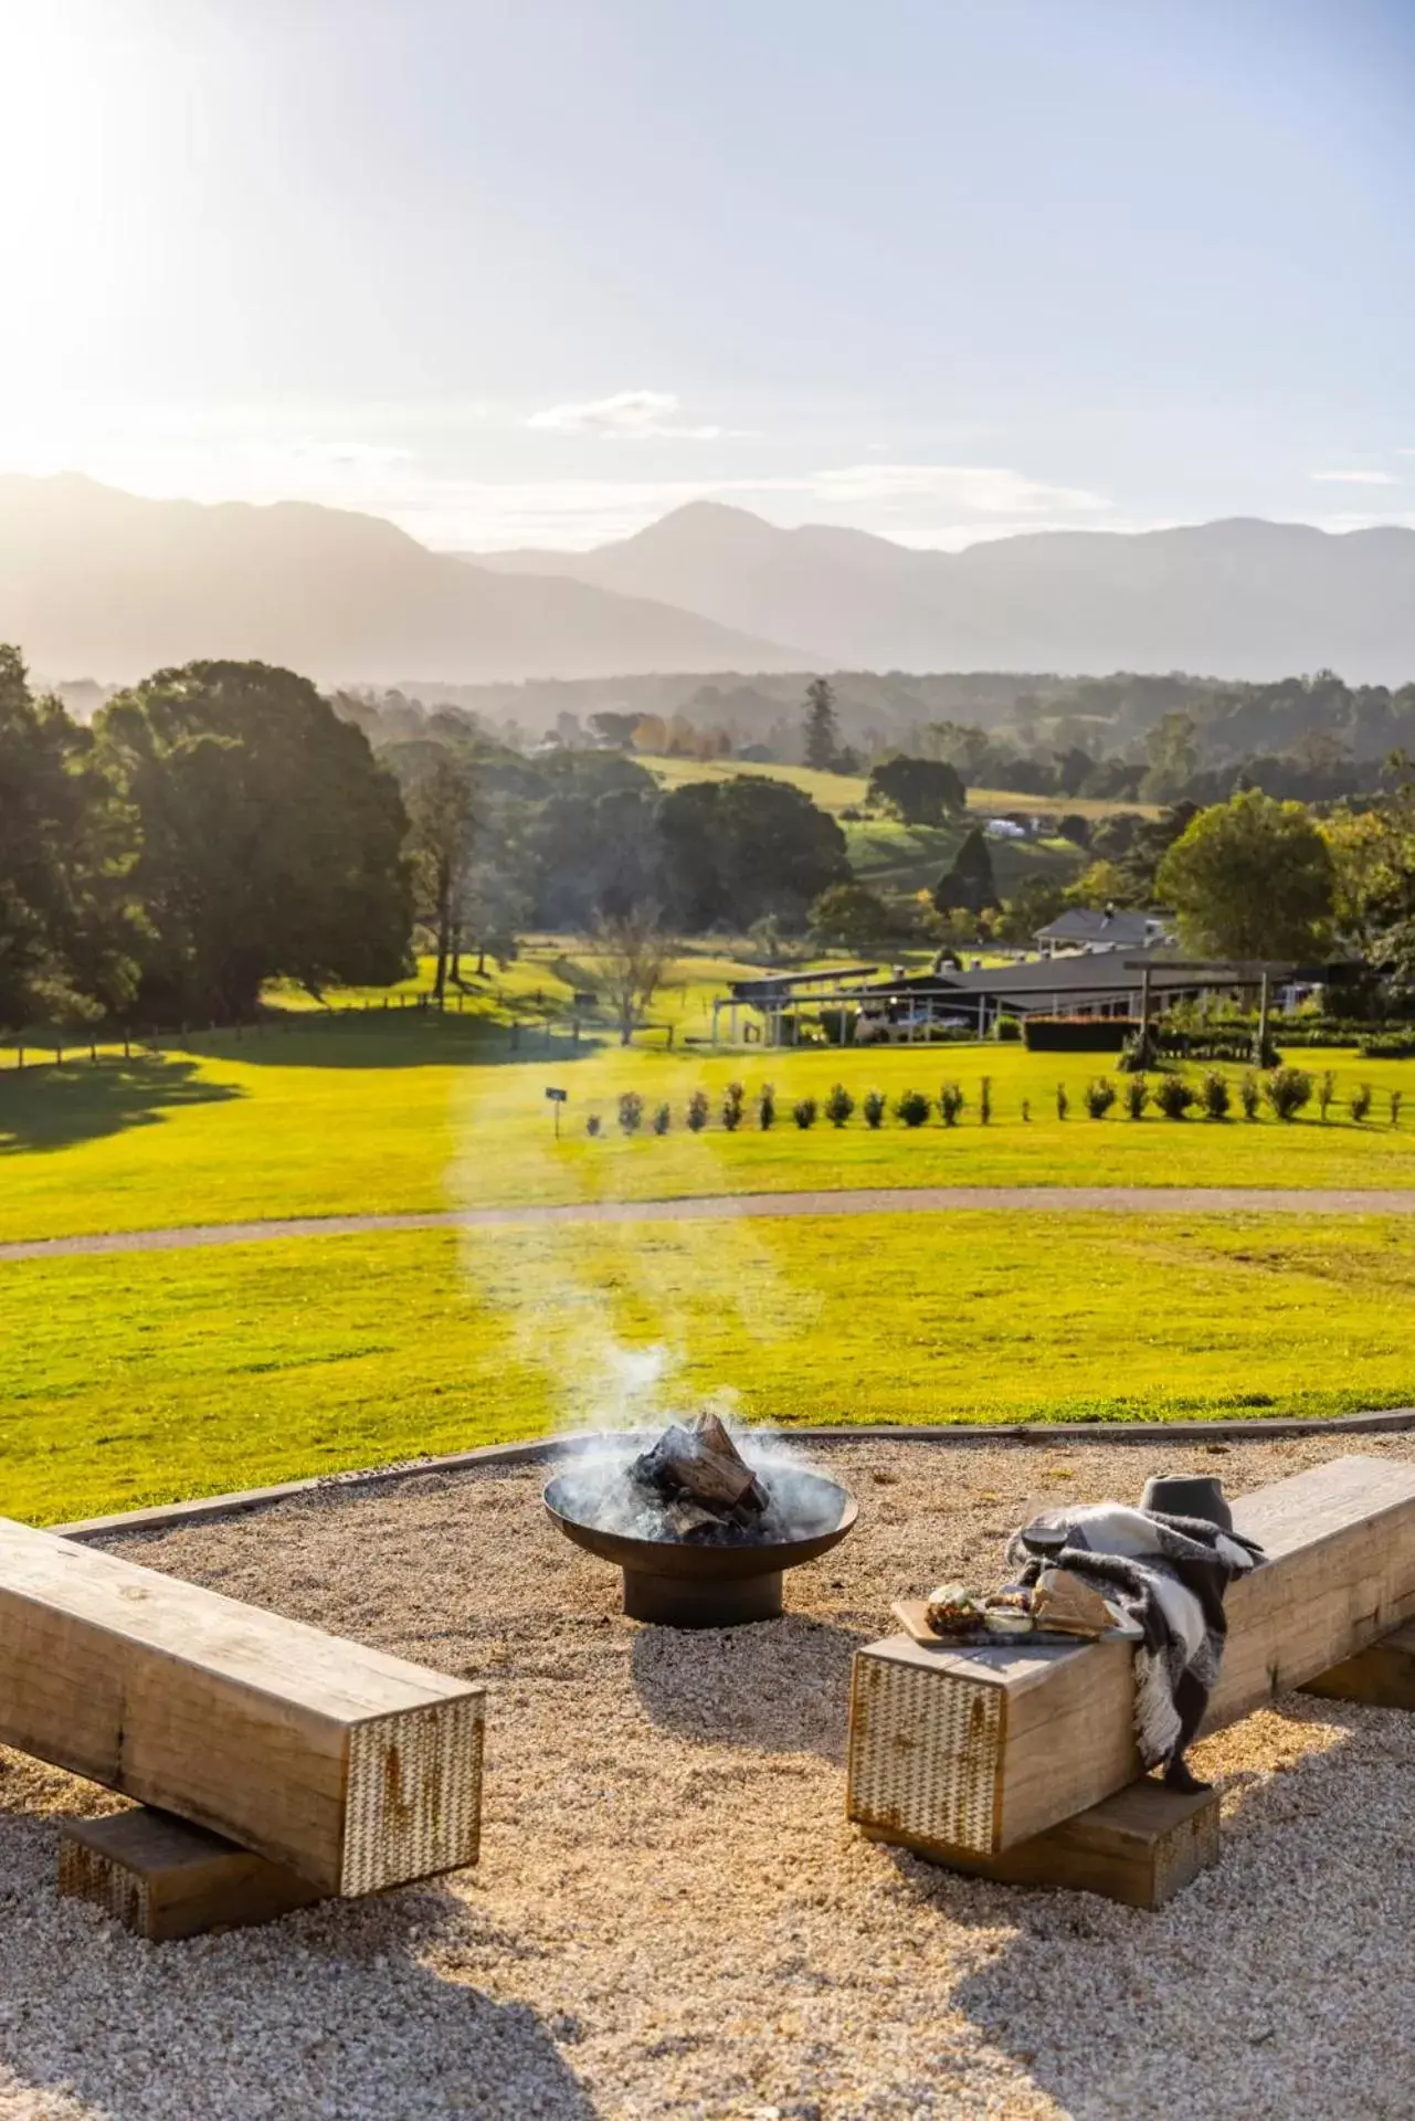
<svg viewBox="0 0 1415 2121">
<path fill-rule="evenodd" d="M 1341 1735 L 1224 1777 L 1222 1858 L 1156 1915 L 891 1852 L 921 1915 L 978 1936 L 950 2002 L 1073 2121 L 1411 2110 L 1390 2028 L 1409 2006 L 1415 1718 L 1292 1701 L 1283 1720 Z"/>
</svg>

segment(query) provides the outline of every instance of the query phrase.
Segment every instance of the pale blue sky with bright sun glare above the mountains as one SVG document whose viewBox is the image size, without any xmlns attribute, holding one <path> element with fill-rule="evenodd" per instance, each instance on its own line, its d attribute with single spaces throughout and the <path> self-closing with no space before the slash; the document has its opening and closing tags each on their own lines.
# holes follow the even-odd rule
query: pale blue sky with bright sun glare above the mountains
<svg viewBox="0 0 1415 2121">
<path fill-rule="evenodd" d="M 0 0 L 0 471 L 1415 524 L 1415 0 Z"/>
</svg>

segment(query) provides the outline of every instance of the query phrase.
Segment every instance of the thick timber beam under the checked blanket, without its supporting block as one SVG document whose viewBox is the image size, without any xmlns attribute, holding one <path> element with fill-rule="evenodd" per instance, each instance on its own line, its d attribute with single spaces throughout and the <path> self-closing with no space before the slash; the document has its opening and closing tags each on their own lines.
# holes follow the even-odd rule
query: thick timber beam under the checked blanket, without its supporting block
<svg viewBox="0 0 1415 2121">
<path fill-rule="evenodd" d="M 1415 1614 L 1415 1466 L 1334 1459 L 1241 1497 L 1233 1514 L 1269 1561 L 1230 1587 L 1205 1731 Z M 1133 1716 L 1126 1642 L 872 1644 L 855 1657 L 849 1816 L 887 1839 L 999 1856 L 1137 1777 Z"/>
</svg>

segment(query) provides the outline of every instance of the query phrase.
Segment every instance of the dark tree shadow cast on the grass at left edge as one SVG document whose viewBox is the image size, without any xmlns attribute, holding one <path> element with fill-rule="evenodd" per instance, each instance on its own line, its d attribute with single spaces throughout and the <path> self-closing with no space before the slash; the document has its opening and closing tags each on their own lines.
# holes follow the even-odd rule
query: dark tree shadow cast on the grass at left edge
<svg viewBox="0 0 1415 2121">
<path fill-rule="evenodd" d="M 195 1060 L 153 1054 L 6 1069 L 0 1075 L 0 1156 L 68 1150 L 129 1126 L 153 1126 L 185 1105 L 225 1105 L 242 1094 L 233 1084 L 199 1077 Z"/>
</svg>

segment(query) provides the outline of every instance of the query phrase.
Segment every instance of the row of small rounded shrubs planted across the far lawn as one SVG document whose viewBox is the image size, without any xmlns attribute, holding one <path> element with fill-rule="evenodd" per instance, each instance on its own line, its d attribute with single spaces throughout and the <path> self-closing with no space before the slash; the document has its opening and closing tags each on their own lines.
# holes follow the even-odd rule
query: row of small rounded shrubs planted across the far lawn
<svg viewBox="0 0 1415 2121">
<path fill-rule="evenodd" d="M 1188 1082 L 1184 1075 L 1160 1073 L 1154 1080 L 1148 1075 L 1126 1075 L 1120 1086 L 1116 1086 L 1110 1075 L 1095 1075 L 1084 1092 L 1082 1105 L 1093 1120 L 1103 1120 L 1107 1111 L 1118 1103 L 1129 1120 L 1143 1120 L 1150 1105 L 1167 1120 L 1184 1120 L 1190 1111 L 1201 1109 L 1205 1120 L 1226 1120 L 1233 1114 L 1233 1103 L 1237 1094 L 1239 1111 L 1245 1120 L 1256 1120 L 1262 1105 L 1269 1105 L 1273 1118 L 1296 1120 L 1298 1111 L 1311 1105 L 1313 1097 L 1317 1101 L 1322 1120 L 1330 1118 L 1332 1105 L 1337 1103 L 1337 1077 L 1330 1069 L 1313 1082 L 1313 1077 L 1300 1067 L 1275 1067 L 1266 1069 L 1262 1075 L 1256 1069 L 1247 1069 L 1239 1075 L 1237 1086 L 1222 1075 L 1218 1069 L 1209 1069 L 1201 1075 L 1199 1084 Z M 1390 1124 L 1400 1126 L 1400 1105 L 1404 1092 L 1390 1090 Z M 849 1120 L 859 1109 L 866 1126 L 878 1128 L 885 1124 L 889 1111 L 902 1126 L 919 1128 L 938 1111 L 944 1126 L 957 1126 L 967 1099 L 963 1086 L 957 1082 L 942 1084 L 938 1099 L 927 1097 L 923 1090 L 902 1090 L 893 1105 L 883 1090 L 868 1090 L 859 1099 L 859 1107 L 844 1084 L 834 1084 L 825 1099 L 802 1097 L 789 1107 L 789 1116 L 802 1130 L 815 1126 L 819 1118 L 829 1120 L 832 1126 L 846 1126 Z M 1375 1090 L 1368 1082 L 1356 1084 L 1347 1092 L 1347 1116 L 1358 1124 L 1370 1118 L 1375 1105 Z M 1056 1084 L 1056 1118 L 1065 1120 L 1071 1111 L 1071 1099 L 1063 1082 Z M 770 1082 L 764 1082 L 753 1101 L 755 1124 L 762 1133 L 768 1133 L 781 1118 L 776 1105 L 776 1090 Z M 672 1107 L 656 1105 L 651 1114 L 645 1111 L 645 1101 L 639 1090 L 624 1090 L 619 1097 L 619 1130 L 624 1135 L 636 1135 L 647 1124 L 656 1135 L 666 1135 L 672 1126 Z M 694 1090 L 687 1099 L 685 1124 L 692 1135 L 700 1135 L 713 1116 L 711 1099 L 706 1090 Z M 740 1082 L 730 1082 L 721 1107 L 719 1120 L 726 1133 L 734 1135 L 747 1118 L 747 1090 Z M 989 1126 L 993 1118 L 993 1084 L 984 1075 L 978 1084 L 978 1124 Z M 1031 1101 L 1023 1099 L 1023 1120 L 1031 1120 Z M 598 1135 L 602 1122 L 598 1114 L 590 1114 L 586 1120 L 586 1130 Z"/>
</svg>

